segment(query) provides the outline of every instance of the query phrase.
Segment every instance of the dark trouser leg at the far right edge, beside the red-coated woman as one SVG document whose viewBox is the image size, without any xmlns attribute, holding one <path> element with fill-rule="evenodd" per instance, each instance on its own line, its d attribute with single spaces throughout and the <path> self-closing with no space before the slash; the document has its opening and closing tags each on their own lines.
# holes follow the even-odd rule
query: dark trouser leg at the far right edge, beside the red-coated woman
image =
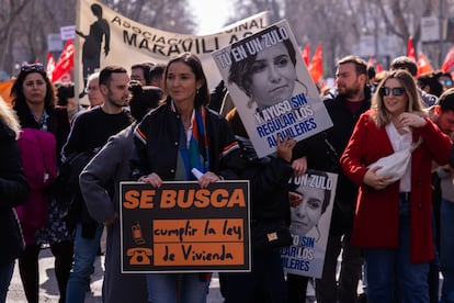
<svg viewBox="0 0 454 303">
<path fill-rule="evenodd" d="M 440 210 L 440 267 L 443 274 L 441 303 L 454 302 L 454 202 L 442 199 Z"/>
</svg>

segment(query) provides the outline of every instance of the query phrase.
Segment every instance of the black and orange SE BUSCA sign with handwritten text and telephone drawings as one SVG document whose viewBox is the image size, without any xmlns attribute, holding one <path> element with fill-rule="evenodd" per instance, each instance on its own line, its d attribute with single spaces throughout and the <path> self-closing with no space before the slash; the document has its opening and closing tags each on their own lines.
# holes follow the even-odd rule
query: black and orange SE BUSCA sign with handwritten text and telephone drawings
<svg viewBox="0 0 454 303">
<path fill-rule="evenodd" d="M 251 270 L 249 181 L 121 183 L 122 272 Z"/>
</svg>

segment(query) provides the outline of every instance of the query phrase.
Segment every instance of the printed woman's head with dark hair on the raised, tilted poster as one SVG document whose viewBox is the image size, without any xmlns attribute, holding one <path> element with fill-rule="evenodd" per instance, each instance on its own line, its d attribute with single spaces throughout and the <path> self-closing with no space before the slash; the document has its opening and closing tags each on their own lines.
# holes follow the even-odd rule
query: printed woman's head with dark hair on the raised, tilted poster
<svg viewBox="0 0 454 303">
<path fill-rule="evenodd" d="M 228 77 L 249 97 L 248 106 L 259 112 L 291 98 L 296 83 L 307 92 L 296 75 L 296 52 L 286 27 L 273 25 L 261 33 L 260 38 L 254 35 L 231 46 L 247 55 L 231 55 Z"/>
</svg>

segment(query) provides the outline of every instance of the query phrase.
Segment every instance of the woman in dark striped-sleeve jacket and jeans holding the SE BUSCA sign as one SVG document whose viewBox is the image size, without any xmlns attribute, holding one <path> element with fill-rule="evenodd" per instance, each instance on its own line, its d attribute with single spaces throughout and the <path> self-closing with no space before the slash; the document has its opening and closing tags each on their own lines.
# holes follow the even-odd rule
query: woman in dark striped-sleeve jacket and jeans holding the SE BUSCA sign
<svg viewBox="0 0 454 303">
<path fill-rule="evenodd" d="M 209 92 L 200 59 L 190 53 L 172 58 L 164 81 L 166 103 L 134 132 L 133 177 L 156 188 L 163 181 L 196 180 L 194 168 L 202 188 L 236 178 L 238 144 L 227 122 L 206 109 Z M 206 273 L 147 274 L 148 302 L 204 302 L 208 282 Z"/>
</svg>

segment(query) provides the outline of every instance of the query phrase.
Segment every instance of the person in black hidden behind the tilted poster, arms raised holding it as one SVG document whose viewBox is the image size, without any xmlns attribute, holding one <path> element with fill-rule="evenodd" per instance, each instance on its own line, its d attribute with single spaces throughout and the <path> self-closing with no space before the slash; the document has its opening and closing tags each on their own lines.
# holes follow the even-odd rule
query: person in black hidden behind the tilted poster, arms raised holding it
<svg viewBox="0 0 454 303">
<path fill-rule="evenodd" d="M 296 173 L 292 167 L 296 142 L 290 136 L 276 138 L 276 156 L 258 158 L 236 108 L 226 119 L 248 164 L 239 177 L 249 180 L 251 188 L 252 271 L 222 273 L 225 303 L 284 303 L 287 285 L 280 248 L 292 244 L 288 180 Z"/>
</svg>

